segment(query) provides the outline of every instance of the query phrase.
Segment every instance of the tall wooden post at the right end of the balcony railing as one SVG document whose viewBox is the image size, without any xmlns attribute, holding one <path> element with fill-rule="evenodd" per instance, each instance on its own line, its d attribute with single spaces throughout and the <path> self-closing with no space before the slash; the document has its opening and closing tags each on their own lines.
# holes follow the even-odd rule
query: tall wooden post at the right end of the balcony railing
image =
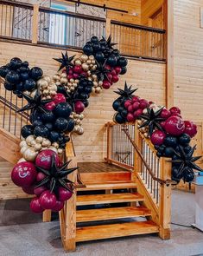
<svg viewBox="0 0 203 256">
<path fill-rule="evenodd" d="M 166 29 L 166 106 L 174 106 L 174 0 L 164 1 Z"/>
</svg>

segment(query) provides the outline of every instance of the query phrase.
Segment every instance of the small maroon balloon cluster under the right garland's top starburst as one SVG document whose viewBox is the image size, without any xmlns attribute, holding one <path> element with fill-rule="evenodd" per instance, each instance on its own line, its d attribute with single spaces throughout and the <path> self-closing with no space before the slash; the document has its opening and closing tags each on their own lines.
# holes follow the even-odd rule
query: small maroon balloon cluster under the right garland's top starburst
<svg viewBox="0 0 203 256">
<path fill-rule="evenodd" d="M 136 121 L 136 119 L 143 115 L 143 109 L 149 107 L 149 102 L 140 99 L 138 96 L 134 96 L 131 100 L 127 100 L 124 102 L 124 108 L 127 109 L 128 115 L 127 115 L 127 121 Z"/>
</svg>

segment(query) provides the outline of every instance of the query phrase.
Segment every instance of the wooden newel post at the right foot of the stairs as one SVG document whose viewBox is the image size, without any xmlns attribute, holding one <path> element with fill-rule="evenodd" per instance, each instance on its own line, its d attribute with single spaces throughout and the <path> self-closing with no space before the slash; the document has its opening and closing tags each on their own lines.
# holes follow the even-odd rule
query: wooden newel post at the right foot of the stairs
<svg viewBox="0 0 203 256">
<path fill-rule="evenodd" d="M 167 158 L 160 161 L 160 179 L 171 180 L 172 165 Z M 159 236 L 163 240 L 170 239 L 171 221 L 171 185 L 162 184 L 159 189 Z"/>
</svg>

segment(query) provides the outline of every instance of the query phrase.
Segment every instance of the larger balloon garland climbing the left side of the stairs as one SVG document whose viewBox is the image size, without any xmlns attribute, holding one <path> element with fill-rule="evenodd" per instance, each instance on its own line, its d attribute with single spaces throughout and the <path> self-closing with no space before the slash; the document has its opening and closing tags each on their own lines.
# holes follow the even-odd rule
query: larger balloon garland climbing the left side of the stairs
<svg viewBox="0 0 203 256">
<path fill-rule="evenodd" d="M 70 134 L 82 135 L 82 112 L 92 94 L 109 89 L 126 72 L 127 59 L 113 49 L 111 36 L 98 40 L 92 36 L 80 56 L 62 53 L 58 73 L 43 75 L 39 67 L 14 57 L 0 68 L 4 88 L 28 103 L 18 110 L 30 110 L 30 124 L 22 127 L 22 158 L 11 173 L 16 186 L 35 194 L 30 203 L 34 213 L 45 209 L 60 211 L 73 194 L 73 182 L 67 180 L 76 168 L 67 168 L 60 155 L 70 141 Z"/>
</svg>

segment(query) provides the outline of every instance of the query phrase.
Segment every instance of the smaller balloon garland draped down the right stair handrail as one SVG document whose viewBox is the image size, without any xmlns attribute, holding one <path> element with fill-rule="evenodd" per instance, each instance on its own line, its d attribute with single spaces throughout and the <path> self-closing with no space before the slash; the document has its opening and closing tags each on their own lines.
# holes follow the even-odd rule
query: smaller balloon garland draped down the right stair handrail
<svg viewBox="0 0 203 256">
<path fill-rule="evenodd" d="M 148 102 L 137 95 L 136 89 L 128 87 L 115 91 L 119 95 L 112 107 L 117 113 L 114 121 L 119 124 L 137 120 L 138 128 L 155 146 L 158 157 L 169 157 L 172 162 L 172 180 L 179 183 L 193 181 L 195 171 L 202 169 L 195 164 L 201 156 L 193 156 L 196 148 L 189 145 L 191 138 L 197 134 L 193 121 L 183 121 L 181 109 L 167 109 Z"/>
</svg>

